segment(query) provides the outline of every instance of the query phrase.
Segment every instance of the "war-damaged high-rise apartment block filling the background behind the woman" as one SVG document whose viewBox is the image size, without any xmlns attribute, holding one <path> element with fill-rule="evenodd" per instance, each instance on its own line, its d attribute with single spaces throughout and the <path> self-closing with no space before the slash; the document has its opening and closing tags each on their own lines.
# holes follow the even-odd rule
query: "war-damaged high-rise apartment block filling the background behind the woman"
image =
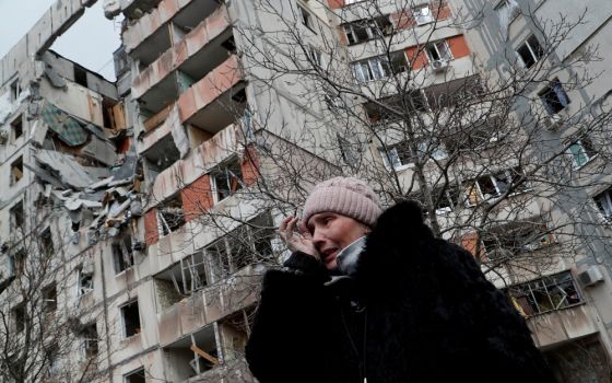
<svg viewBox="0 0 612 383">
<path fill-rule="evenodd" d="M 0 61 L 2 380 L 254 382 L 275 227 L 339 174 L 422 201 L 560 382 L 610 379 L 607 1 L 105 0 L 116 81 L 51 49 L 95 2 Z"/>
</svg>

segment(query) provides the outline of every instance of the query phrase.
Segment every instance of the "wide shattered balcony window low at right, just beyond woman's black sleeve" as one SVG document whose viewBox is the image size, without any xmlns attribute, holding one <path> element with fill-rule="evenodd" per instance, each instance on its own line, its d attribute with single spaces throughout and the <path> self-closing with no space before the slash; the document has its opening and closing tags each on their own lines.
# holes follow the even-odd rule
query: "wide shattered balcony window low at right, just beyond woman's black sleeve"
<svg viewBox="0 0 612 383">
<path fill-rule="evenodd" d="M 584 301 L 570 271 L 510 286 L 507 291 L 527 316 L 568 307 Z"/>
</svg>

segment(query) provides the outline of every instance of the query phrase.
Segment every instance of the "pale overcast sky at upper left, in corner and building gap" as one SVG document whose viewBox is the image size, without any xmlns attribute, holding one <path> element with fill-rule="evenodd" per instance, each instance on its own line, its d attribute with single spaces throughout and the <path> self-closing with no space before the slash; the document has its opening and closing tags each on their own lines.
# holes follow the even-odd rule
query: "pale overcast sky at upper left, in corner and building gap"
<svg viewBox="0 0 612 383">
<path fill-rule="evenodd" d="M 0 57 L 3 57 L 43 16 L 56 0 L 0 0 Z M 121 44 L 120 20 L 107 20 L 102 10 L 103 0 L 87 8 L 85 14 L 56 39 L 51 49 L 115 80 L 113 53 Z"/>
</svg>

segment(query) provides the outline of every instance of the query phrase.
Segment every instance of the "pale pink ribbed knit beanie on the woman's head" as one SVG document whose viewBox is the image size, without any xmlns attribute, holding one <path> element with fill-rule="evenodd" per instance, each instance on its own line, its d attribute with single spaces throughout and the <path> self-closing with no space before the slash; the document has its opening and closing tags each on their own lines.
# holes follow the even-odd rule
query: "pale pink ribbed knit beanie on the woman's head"
<svg viewBox="0 0 612 383">
<path fill-rule="evenodd" d="M 317 184 L 304 204 L 302 221 L 307 224 L 310 217 L 323 211 L 351 217 L 369 227 L 382 212 L 374 190 L 353 177 L 334 177 Z"/>
</svg>

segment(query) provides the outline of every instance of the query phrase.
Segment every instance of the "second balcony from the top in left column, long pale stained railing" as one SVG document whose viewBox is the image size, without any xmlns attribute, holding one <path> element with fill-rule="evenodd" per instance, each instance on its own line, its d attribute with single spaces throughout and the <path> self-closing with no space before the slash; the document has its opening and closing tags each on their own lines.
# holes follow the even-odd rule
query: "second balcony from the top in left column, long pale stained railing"
<svg viewBox="0 0 612 383">
<path fill-rule="evenodd" d="M 227 58 L 232 25 L 222 7 L 173 45 L 133 81 L 132 93 L 145 109 L 157 113 Z M 229 45 L 232 46 L 232 45 Z"/>
</svg>

